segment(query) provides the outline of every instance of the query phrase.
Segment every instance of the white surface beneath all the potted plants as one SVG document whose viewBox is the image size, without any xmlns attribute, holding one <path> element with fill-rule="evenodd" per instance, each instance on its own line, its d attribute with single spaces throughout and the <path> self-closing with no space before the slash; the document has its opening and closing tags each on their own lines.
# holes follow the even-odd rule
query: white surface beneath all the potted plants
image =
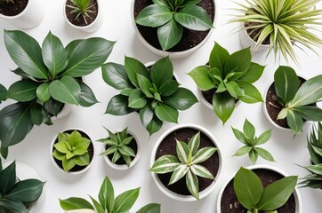
<svg viewBox="0 0 322 213">
<path fill-rule="evenodd" d="M 102 36 L 109 40 L 117 41 L 108 59 L 108 61 L 116 63 L 123 64 L 125 55 L 140 59 L 143 63 L 159 59 L 157 55 L 154 55 L 146 49 L 134 35 L 130 16 L 130 0 L 102 1 L 105 20 L 100 30 L 93 34 L 80 33 L 77 30 L 72 30 L 67 27 L 62 16 L 61 7 L 63 2 L 63 0 L 44 0 L 44 21 L 37 28 L 28 29 L 25 32 L 31 36 L 35 36 L 39 42 L 44 40 L 49 30 L 52 30 L 54 35 L 59 36 L 64 44 L 67 44 L 73 39 L 90 36 Z M 213 36 L 205 43 L 205 46 L 185 59 L 173 60 L 173 67 L 179 77 L 181 85 L 189 88 L 196 96 L 197 87 L 186 73 L 194 67 L 207 62 L 209 53 L 213 48 L 213 41 L 216 40 L 230 52 L 241 49 L 239 35 L 238 33 L 234 33 L 237 31 L 237 24 L 227 24 L 227 21 L 231 18 L 229 14 L 236 13 L 235 11 L 229 10 L 229 8 L 233 8 L 235 5 L 227 0 L 219 0 L 218 6 L 217 26 L 213 31 Z M 322 8 L 322 5 L 319 4 L 318 7 Z M 9 69 L 16 68 L 16 65 L 14 65 L 5 50 L 3 28 L 14 29 L 15 27 L 9 25 L 4 20 L 0 20 L 0 28 L 0 62 L 2 73 L 0 83 L 3 83 L 8 88 L 13 82 L 19 80 L 19 76 L 9 71 Z M 320 36 L 322 36 L 322 33 Z M 322 55 L 322 49 L 318 49 L 317 51 L 319 55 Z M 296 54 L 300 58 L 301 67 L 296 67 L 294 63 L 292 63 L 292 67 L 300 74 L 308 76 L 321 74 L 320 57 L 310 51 L 308 52 L 310 55 L 305 54 L 299 49 L 296 50 Z M 262 78 L 255 83 L 262 94 L 278 67 L 278 62 L 274 62 L 273 56 L 270 56 L 266 60 L 265 56 L 265 54 L 258 52 L 254 55 L 253 59 L 255 62 L 267 65 Z M 284 60 L 281 60 L 279 64 L 286 65 Z M 71 106 L 73 112 L 67 117 L 55 121 L 52 126 L 42 125 L 41 127 L 35 127 L 23 142 L 10 148 L 9 160 L 17 159 L 21 162 L 27 162 L 39 172 L 44 180 L 47 180 L 46 186 L 48 191 L 44 204 L 44 213 L 63 212 L 60 209 L 58 198 L 66 199 L 70 196 L 88 198 L 87 194 L 91 194 L 94 198 L 97 198 L 101 182 L 105 176 L 109 176 L 111 179 L 115 186 L 116 194 L 141 186 L 140 196 L 134 204 L 132 212 L 135 212 L 149 202 L 161 203 L 162 212 L 165 213 L 215 212 L 216 199 L 222 183 L 231 174 L 236 172 L 240 166 L 251 165 L 251 162 L 246 156 L 231 157 L 237 148 L 242 145 L 234 138 L 230 125 L 233 125 L 237 129 L 242 129 L 246 117 L 256 126 L 256 134 L 260 134 L 264 130 L 272 129 L 272 137 L 263 147 L 270 150 L 270 153 L 277 162 L 266 162 L 259 159 L 258 164 L 274 165 L 290 175 L 303 177 L 307 174 L 305 170 L 295 164 L 308 165 L 310 162 L 309 152 L 306 148 L 306 134 L 303 133 L 293 138 L 291 132 L 277 130 L 271 126 L 270 122 L 266 120 L 262 113 L 262 104 L 240 104 L 225 126 L 222 126 L 211 109 L 201 103 L 197 103 L 189 108 L 189 110 L 181 112 L 179 122 L 197 123 L 213 133 L 221 146 L 223 170 L 221 177 L 218 179 L 218 185 L 216 185 L 213 193 L 205 199 L 189 203 L 174 201 L 157 189 L 157 185 L 155 185 L 149 174 L 149 159 L 152 147 L 156 143 L 157 138 L 175 124 L 164 123 L 160 131 L 149 137 L 148 132 L 141 125 L 138 114 L 129 114 L 120 117 L 104 114 L 109 99 L 119 91 L 103 82 L 100 69 L 96 70 L 92 75 L 85 76 L 85 83 L 88 83 L 92 87 L 97 99 L 101 102 L 100 104 L 89 108 Z M 12 103 L 12 101 L 6 101 L 0 107 L 4 107 L 9 103 Z M 137 132 L 138 137 L 140 137 L 139 142 L 141 143 L 142 154 L 140 161 L 135 167 L 125 171 L 113 170 L 106 165 L 101 156 L 98 156 L 93 164 L 93 168 L 88 170 L 84 176 L 66 177 L 60 174 L 52 165 L 50 156 L 48 155 L 50 143 L 54 135 L 60 130 L 78 127 L 88 132 L 90 137 L 96 140 L 106 136 L 106 130 L 102 126 L 109 128 L 109 130 L 123 129 L 128 126 L 129 129 Z M 101 147 L 99 143 L 95 143 L 94 146 L 96 150 Z M 304 213 L 321 212 L 322 190 L 302 188 L 300 192 L 302 193 Z"/>
</svg>

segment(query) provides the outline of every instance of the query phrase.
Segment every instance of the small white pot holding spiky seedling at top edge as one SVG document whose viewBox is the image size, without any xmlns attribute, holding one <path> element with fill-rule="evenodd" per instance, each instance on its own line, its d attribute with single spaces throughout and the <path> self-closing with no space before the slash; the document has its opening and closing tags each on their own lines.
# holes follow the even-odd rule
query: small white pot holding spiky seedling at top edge
<svg viewBox="0 0 322 213">
<path fill-rule="evenodd" d="M 97 12 L 96 19 L 91 24 L 82 27 L 82 26 L 76 26 L 68 20 L 68 18 L 66 16 L 66 2 L 67 2 L 67 0 L 66 0 L 65 4 L 63 6 L 63 16 L 64 16 L 68 26 L 70 28 L 76 28 L 76 29 L 83 31 L 85 33 L 93 33 L 95 31 L 97 31 L 99 28 L 101 28 L 101 24 L 103 23 L 103 20 L 104 20 L 104 18 L 103 18 L 104 12 L 102 12 L 101 0 L 96 0 L 96 1 L 97 1 L 97 5 L 98 5 L 98 12 Z"/>
</svg>

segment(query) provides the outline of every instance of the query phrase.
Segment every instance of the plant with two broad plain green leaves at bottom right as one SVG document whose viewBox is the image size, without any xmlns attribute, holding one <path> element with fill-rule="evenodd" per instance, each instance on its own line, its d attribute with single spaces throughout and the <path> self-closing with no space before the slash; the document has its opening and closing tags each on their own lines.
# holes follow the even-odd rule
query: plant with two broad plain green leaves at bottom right
<svg viewBox="0 0 322 213">
<path fill-rule="evenodd" d="M 240 168 L 234 177 L 234 191 L 247 213 L 277 213 L 292 195 L 296 181 L 296 176 L 284 177 L 264 188 L 254 171 Z"/>
</svg>

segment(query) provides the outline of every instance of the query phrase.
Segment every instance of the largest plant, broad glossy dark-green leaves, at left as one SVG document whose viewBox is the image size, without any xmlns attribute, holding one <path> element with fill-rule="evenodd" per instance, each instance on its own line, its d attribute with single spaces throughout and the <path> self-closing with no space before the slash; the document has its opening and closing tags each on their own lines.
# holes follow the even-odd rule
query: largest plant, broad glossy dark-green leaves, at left
<svg viewBox="0 0 322 213">
<path fill-rule="evenodd" d="M 4 30 L 4 44 L 13 70 L 21 80 L 8 89 L 6 98 L 18 101 L 0 111 L 1 147 L 20 143 L 34 125 L 52 124 L 64 104 L 93 106 L 91 88 L 81 77 L 91 74 L 108 59 L 113 42 L 93 37 L 75 40 L 66 47 L 51 32 L 42 47 L 21 31 Z"/>
</svg>

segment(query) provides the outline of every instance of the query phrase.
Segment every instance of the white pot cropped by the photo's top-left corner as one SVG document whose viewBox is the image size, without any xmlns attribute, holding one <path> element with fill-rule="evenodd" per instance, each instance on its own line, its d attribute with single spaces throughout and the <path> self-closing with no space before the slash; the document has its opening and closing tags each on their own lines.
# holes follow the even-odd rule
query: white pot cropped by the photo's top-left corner
<svg viewBox="0 0 322 213">
<path fill-rule="evenodd" d="M 18 28 L 35 28 L 44 19 L 44 0 L 28 0 L 25 10 L 20 14 L 15 16 L 0 14 L 0 18 Z"/>
</svg>

